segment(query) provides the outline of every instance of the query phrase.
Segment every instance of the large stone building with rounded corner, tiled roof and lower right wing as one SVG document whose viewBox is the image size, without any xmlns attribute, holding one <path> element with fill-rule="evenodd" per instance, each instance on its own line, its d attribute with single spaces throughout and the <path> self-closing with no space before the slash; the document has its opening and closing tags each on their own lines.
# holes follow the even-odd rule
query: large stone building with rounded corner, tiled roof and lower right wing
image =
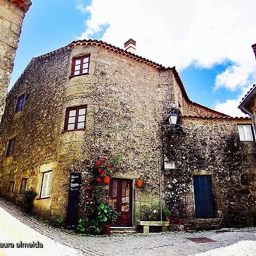
<svg viewBox="0 0 256 256">
<path fill-rule="evenodd" d="M 119 226 L 160 218 L 159 173 L 165 207 L 188 228 L 196 221 L 253 225 L 255 195 L 246 174 L 255 169 L 248 159 L 255 144 L 249 130 L 243 133 L 250 119 L 192 102 L 175 67 L 129 48 L 134 40 L 125 49 L 78 40 L 31 60 L 7 96 L 0 126 L 1 195 L 19 203 L 34 189 L 36 214 L 65 219 L 75 172 L 79 216 L 86 216 L 90 164 L 122 156 L 110 188 L 103 187 L 128 216 Z M 172 111 L 179 114 L 175 129 L 168 124 Z M 142 188 L 135 185 L 140 176 Z M 198 203 L 204 194 L 207 213 Z"/>
</svg>

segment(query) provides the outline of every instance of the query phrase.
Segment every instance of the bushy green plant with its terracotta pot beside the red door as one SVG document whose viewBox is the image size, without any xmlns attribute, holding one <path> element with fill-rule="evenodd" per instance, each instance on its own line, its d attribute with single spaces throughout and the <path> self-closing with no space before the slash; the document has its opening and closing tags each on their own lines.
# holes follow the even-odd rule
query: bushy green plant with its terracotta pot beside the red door
<svg viewBox="0 0 256 256">
<path fill-rule="evenodd" d="M 100 203 L 98 206 L 98 221 L 102 224 L 103 234 L 109 234 L 110 223 L 117 221 L 120 215 L 111 205 Z"/>
</svg>

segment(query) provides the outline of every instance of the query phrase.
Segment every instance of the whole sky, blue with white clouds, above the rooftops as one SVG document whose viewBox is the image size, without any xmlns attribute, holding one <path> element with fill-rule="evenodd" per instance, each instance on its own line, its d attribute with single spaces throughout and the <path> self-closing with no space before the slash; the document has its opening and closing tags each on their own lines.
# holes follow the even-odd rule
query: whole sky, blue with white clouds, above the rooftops
<svg viewBox="0 0 256 256">
<path fill-rule="evenodd" d="M 256 80 L 255 1 L 44 0 L 24 19 L 11 86 L 32 57 L 79 38 L 123 47 L 137 41 L 137 54 L 176 66 L 189 98 L 231 115 Z M 255 8 L 254 8 L 255 7 Z M 216 19 L 218 17 L 218 19 Z"/>
</svg>

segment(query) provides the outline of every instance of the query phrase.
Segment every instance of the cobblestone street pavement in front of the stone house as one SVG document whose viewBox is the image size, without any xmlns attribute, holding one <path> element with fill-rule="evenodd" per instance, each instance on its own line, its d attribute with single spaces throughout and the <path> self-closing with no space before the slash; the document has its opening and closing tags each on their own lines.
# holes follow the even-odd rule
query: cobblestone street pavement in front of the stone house
<svg viewBox="0 0 256 256">
<path fill-rule="evenodd" d="M 216 242 L 195 243 L 187 237 Z M 19 241 L 39 241 L 44 248 L 0 248 L 0 255 L 256 255 L 256 228 L 82 236 L 48 226 L 0 199 L 0 243 Z"/>
</svg>

